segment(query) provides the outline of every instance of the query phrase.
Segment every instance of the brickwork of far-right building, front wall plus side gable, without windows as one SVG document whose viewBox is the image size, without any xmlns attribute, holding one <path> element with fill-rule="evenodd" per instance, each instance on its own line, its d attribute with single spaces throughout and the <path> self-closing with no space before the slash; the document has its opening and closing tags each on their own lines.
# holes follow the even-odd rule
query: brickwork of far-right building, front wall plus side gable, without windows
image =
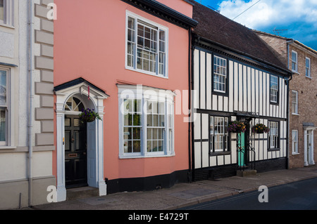
<svg viewBox="0 0 317 224">
<path fill-rule="evenodd" d="M 317 53 L 294 41 L 289 45 L 289 64 L 287 64 L 287 41 L 290 39 L 278 37 L 263 32 L 256 34 L 268 44 L 272 51 L 292 70 L 292 50 L 297 52 L 298 72 L 290 81 L 290 133 L 289 133 L 289 167 L 304 166 L 304 123 L 317 126 Z M 311 59 L 311 78 L 305 77 L 306 57 Z M 298 92 L 298 114 L 292 114 L 292 91 Z M 292 154 L 292 130 L 298 131 L 298 153 Z M 317 129 L 313 131 L 313 158 L 317 160 Z"/>
</svg>

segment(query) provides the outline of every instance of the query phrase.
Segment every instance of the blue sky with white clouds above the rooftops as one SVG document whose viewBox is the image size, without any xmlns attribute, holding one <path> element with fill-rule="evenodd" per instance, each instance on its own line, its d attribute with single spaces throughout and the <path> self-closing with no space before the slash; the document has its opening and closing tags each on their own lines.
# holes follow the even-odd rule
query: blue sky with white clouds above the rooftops
<svg viewBox="0 0 317 224">
<path fill-rule="evenodd" d="M 250 29 L 295 39 L 317 51 L 317 0 L 195 1 Z"/>
</svg>

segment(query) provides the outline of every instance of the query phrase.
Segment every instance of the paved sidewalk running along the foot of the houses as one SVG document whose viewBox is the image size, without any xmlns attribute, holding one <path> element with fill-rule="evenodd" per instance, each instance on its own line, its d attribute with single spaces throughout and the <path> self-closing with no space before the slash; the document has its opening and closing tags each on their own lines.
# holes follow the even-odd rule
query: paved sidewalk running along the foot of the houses
<svg viewBox="0 0 317 224">
<path fill-rule="evenodd" d="M 178 183 L 170 188 L 149 192 L 119 192 L 102 197 L 85 197 L 23 210 L 173 210 L 259 190 L 261 185 L 269 188 L 309 178 L 317 178 L 316 165 L 256 173 L 251 176 Z"/>
</svg>

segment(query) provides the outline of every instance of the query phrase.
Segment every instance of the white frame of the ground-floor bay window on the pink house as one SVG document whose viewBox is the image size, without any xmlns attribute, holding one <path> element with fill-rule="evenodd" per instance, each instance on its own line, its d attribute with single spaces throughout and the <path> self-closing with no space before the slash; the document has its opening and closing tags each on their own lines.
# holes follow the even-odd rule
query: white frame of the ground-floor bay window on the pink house
<svg viewBox="0 0 317 224">
<path fill-rule="evenodd" d="M 156 88 L 145 87 L 142 85 L 128 86 L 118 85 L 118 114 L 119 114 L 119 158 L 147 158 L 147 157 L 171 157 L 175 155 L 174 151 L 174 96 L 175 93 L 167 90 L 158 90 Z M 140 100 L 141 101 L 141 150 L 140 152 L 126 152 L 124 148 L 124 100 Z M 147 130 L 155 128 L 147 126 L 147 103 L 149 101 L 164 103 L 164 126 L 163 126 L 163 151 L 148 152 L 147 151 Z M 172 114 L 170 114 L 172 113 Z M 169 115 L 171 115 L 169 119 Z M 172 133 L 170 133 L 170 130 Z M 152 138 L 151 138 L 152 140 Z"/>
</svg>

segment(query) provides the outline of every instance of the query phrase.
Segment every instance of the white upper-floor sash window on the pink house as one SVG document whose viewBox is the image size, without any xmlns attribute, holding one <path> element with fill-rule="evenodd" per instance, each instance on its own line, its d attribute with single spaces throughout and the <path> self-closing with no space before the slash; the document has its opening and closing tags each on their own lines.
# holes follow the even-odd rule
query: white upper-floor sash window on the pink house
<svg viewBox="0 0 317 224">
<path fill-rule="evenodd" d="M 168 29 L 127 12 L 125 67 L 168 77 Z"/>
</svg>

